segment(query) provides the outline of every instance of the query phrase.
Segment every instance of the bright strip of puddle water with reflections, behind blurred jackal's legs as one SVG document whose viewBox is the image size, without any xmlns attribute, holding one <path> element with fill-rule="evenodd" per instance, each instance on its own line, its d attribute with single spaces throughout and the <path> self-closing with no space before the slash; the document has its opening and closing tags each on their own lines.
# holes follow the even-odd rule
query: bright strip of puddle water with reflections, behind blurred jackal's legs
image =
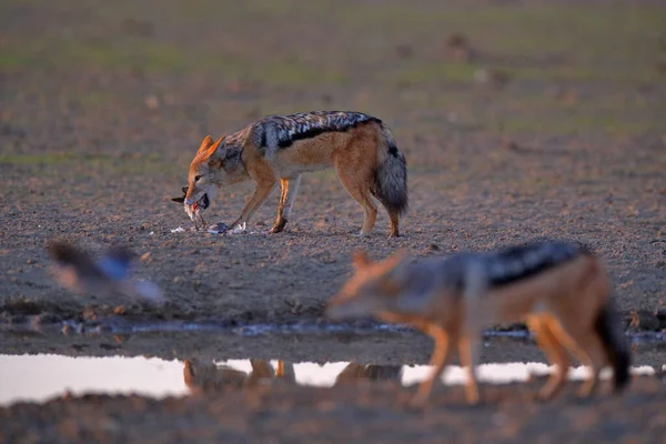
<svg viewBox="0 0 666 444">
<path fill-rule="evenodd" d="M 666 367 L 666 366 L 665 366 Z M 506 383 L 525 381 L 531 374 L 547 374 L 546 364 L 483 364 L 480 381 Z M 296 383 L 335 386 L 363 381 L 398 381 L 412 385 L 424 380 L 427 365 L 363 365 L 350 362 L 323 365 L 304 362 L 230 360 L 201 363 L 195 359 L 165 361 L 157 357 L 70 357 L 53 354 L 0 355 L 0 405 L 18 401 L 43 402 L 62 395 L 83 393 L 130 394 L 147 396 L 184 396 L 215 392 L 223 387 L 249 387 L 258 384 Z M 587 369 L 569 371 L 582 380 Z M 633 369 L 633 373 L 652 374 L 653 367 Z M 607 377 L 608 373 L 603 376 Z M 465 372 L 451 366 L 443 376 L 445 384 L 461 384 Z"/>
</svg>

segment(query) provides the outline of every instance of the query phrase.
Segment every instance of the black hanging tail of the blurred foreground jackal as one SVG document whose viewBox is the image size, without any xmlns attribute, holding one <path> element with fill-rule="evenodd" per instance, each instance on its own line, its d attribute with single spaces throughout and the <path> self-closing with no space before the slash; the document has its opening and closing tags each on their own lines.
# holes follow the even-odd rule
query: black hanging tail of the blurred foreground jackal
<svg viewBox="0 0 666 444">
<path fill-rule="evenodd" d="M 598 313 L 594 327 L 602 339 L 604 351 L 613 366 L 613 385 L 620 392 L 630 380 L 632 356 L 615 307 L 608 302 Z"/>
</svg>

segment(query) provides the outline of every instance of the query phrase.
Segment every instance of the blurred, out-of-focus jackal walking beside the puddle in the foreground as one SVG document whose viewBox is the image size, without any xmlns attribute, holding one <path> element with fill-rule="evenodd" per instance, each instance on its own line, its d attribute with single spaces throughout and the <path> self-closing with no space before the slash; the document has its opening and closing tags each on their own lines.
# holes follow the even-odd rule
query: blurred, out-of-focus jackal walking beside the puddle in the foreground
<svg viewBox="0 0 666 444">
<path fill-rule="evenodd" d="M 373 262 L 354 256 L 356 273 L 326 309 L 332 319 L 372 315 L 407 323 L 435 341 L 430 379 L 414 405 L 423 405 L 457 343 L 468 367 L 465 395 L 478 401 L 475 366 L 483 330 L 525 321 L 557 369 L 539 392 L 557 394 L 571 364 L 568 352 L 592 370 L 581 387 L 587 396 L 606 364 L 619 392 L 629 381 L 630 356 L 610 300 L 610 283 L 601 261 L 584 246 L 542 242 L 492 253 L 461 253 L 447 259 L 412 261 L 403 252 Z"/>
</svg>

